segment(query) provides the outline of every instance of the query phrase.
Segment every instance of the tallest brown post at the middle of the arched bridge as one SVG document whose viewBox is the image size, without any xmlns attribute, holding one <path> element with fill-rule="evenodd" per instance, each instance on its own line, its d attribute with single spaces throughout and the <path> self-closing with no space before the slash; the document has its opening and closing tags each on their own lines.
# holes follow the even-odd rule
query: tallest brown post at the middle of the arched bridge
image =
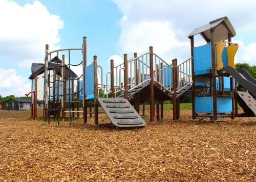
<svg viewBox="0 0 256 182">
<path fill-rule="evenodd" d="M 150 46 L 150 121 L 154 121 L 155 99 L 154 99 L 154 65 L 153 65 L 153 47 Z"/>
</svg>

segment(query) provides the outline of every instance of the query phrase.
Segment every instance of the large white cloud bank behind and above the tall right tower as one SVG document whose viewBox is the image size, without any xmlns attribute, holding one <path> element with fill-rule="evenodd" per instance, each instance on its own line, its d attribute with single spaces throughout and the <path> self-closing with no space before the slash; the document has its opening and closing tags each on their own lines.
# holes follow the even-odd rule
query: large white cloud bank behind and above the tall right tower
<svg viewBox="0 0 256 182">
<path fill-rule="evenodd" d="M 119 20 L 121 34 L 117 43 L 120 54 L 132 54 L 134 51 L 143 53 L 152 45 L 154 53 L 164 60 L 169 62 L 178 58 L 178 61 L 183 61 L 190 56 L 189 39 L 186 36 L 195 28 L 223 16 L 228 16 L 234 29 L 241 34 L 256 31 L 254 0 L 246 3 L 240 0 L 112 1 L 123 13 Z M 253 41 L 256 42 L 256 39 Z M 199 39 L 195 45 L 198 43 L 202 41 Z M 252 43 L 241 53 L 245 61 L 253 59 L 253 49 Z"/>
</svg>

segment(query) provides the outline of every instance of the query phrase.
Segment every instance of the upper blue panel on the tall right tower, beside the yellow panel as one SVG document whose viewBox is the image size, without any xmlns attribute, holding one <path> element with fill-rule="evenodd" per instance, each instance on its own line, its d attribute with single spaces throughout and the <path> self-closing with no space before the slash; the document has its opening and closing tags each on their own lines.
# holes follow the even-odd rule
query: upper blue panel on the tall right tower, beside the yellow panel
<svg viewBox="0 0 256 182">
<path fill-rule="evenodd" d="M 211 44 L 194 47 L 193 51 L 195 75 L 209 73 L 209 69 L 211 69 Z"/>
</svg>

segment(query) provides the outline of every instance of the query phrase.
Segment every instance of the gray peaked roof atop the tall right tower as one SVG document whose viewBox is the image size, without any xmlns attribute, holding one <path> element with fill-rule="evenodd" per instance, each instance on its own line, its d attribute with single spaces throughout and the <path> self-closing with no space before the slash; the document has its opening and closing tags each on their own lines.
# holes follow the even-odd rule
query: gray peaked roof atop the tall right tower
<svg viewBox="0 0 256 182">
<path fill-rule="evenodd" d="M 195 29 L 187 37 L 200 34 L 206 42 L 209 42 L 210 30 L 214 31 L 214 42 L 228 39 L 228 33 L 230 34 L 231 37 L 234 37 L 236 35 L 236 31 L 234 31 L 232 24 L 230 23 L 229 19 L 225 16 L 210 21 L 202 27 Z"/>
</svg>

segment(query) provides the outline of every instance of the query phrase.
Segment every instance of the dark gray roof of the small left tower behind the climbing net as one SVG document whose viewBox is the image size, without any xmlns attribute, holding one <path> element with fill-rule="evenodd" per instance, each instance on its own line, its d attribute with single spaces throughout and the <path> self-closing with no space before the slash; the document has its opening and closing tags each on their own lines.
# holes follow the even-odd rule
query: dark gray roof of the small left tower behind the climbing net
<svg viewBox="0 0 256 182">
<path fill-rule="evenodd" d="M 50 69 L 55 69 L 57 67 L 57 62 L 58 62 L 59 66 L 62 63 L 59 58 L 54 57 L 51 60 L 50 64 L 49 64 L 49 68 Z M 61 74 L 61 67 L 58 67 L 57 70 L 58 70 L 58 75 L 60 75 Z M 76 79 L 77 74 L 74 71 L 72 71 L 71 69 L 69 69 L 68 66 L 66 66 L 66 69 L 65 69 L 65 78 L 69 77 L 69 71 L 70 71 L 71 77 L 73 77 L 73 79 Z M 31 73 L 32 74 L 29 76 L 29 79 L 32 80 L 32 79 L 34 79 L 35 75 L 39 75 L 39 74 L 42 74 L 44 72 L 45 72 L 45 64 L 43 64 L 43 63 L 32 63 L 32 65 L 31 65 Z"/>
</svg>

